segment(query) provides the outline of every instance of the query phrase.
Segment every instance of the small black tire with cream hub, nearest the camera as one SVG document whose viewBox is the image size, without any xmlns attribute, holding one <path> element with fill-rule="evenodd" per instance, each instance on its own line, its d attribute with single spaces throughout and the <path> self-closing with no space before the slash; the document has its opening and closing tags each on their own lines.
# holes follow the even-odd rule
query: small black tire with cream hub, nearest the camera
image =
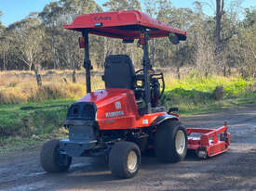
<svg viewBox="0 0 256 191">
<path fill-rule="evenodd" d="M 136 154 L 134 168 L 128 168 L 128 156 Z M 135 157 L 135 156 L 134 156 Z M 113 175 L 119 178 L 132 178 L 141 166 L 141 150 L 132 142 L 121 141 L 115 143 L 109 155 L 109 168 Z"/>
</svg>

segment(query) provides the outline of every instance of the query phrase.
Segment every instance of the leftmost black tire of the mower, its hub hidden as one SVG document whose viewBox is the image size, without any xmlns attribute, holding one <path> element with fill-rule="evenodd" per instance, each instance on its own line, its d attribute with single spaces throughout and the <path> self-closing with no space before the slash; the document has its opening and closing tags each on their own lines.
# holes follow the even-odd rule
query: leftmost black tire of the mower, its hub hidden
<svg viewBox="0 0 256 191">
<path fill-rule="evenodd" d="M 66 172 L 72 158 L 60 153 L 60 140 L 50 140 L 42 146 L 40 162 L 46 172 Z"/>
</svg>

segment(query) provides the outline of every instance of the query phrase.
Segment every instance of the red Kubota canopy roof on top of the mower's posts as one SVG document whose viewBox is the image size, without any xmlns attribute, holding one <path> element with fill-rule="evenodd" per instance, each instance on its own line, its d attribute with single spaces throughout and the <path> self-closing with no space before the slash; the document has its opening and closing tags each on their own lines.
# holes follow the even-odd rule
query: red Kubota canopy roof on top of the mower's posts
<svg viewBox="0 0 256 191">
<path fill-rule="evenodd" d="M 181 40 L 185 40 L 187 32 L 174 29 L 149 15 L 136 10 L 91 13 L 79 16 L 64 29 L 122 39 L 136 39 L 141 33 L 141 26 L 149 29 L 150 38 L 166 37 L 169 32 L 176 33 Z"/>
</svg>

